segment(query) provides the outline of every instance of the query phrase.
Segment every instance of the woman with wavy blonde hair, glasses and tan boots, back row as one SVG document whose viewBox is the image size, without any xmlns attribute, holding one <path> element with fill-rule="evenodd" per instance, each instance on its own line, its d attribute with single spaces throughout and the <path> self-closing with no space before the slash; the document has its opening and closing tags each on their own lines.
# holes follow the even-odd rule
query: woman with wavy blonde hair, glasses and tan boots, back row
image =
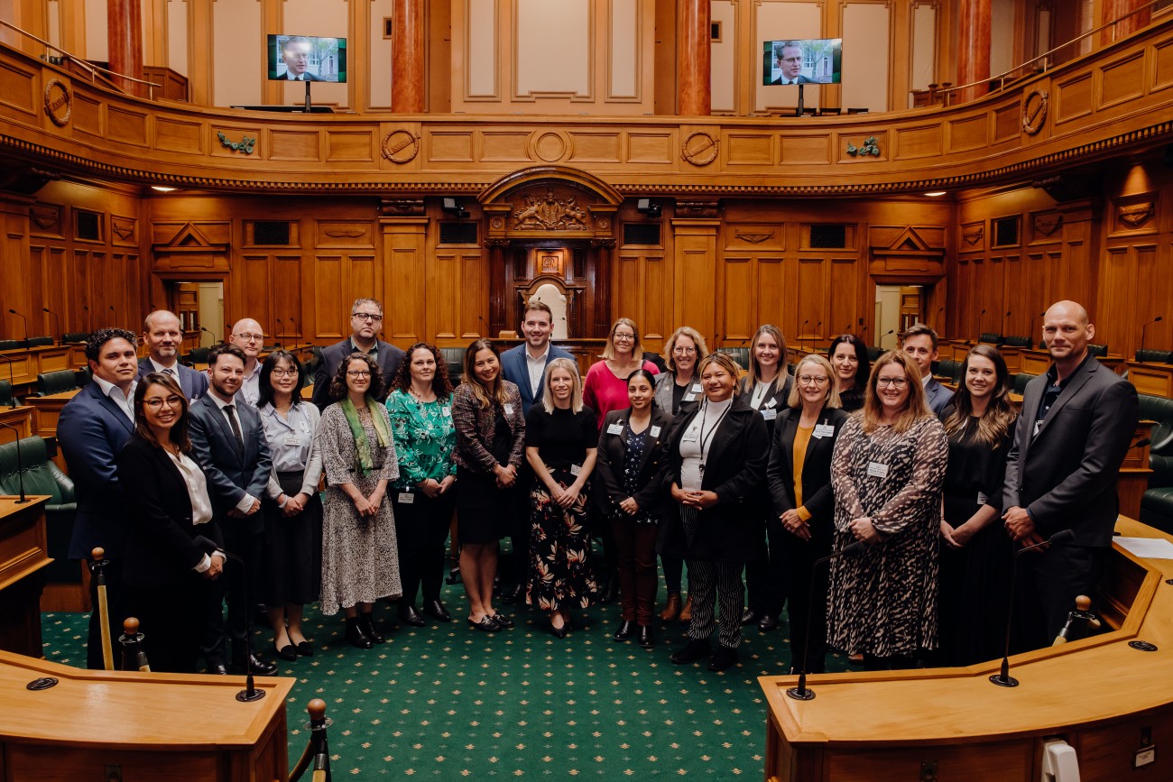
<svg viewBox="0 0 1173 782">
<path fill-rule="evenodd" d="M 670 419 L 687 415 L 696 408 L 705 393 L 700 388 L 700 375 L 697 374 L 697 362 L 708 355 L 705 338 L 691 326 L 680 326 L 667 338 L 667 372 L 656 376 L 656 407 L 664 410 Z M 630 383 L 629 383 L 630 394 Z M 676 557 L 660 557 L 664 566 L 664 582 L 667 586 L 667 604 L 660 612 L 660 619 L 689 621 L 692 619 L 692 600 L 682 604 L 682 584 L 684 582 L 684 560 Z"/>
</svg>

